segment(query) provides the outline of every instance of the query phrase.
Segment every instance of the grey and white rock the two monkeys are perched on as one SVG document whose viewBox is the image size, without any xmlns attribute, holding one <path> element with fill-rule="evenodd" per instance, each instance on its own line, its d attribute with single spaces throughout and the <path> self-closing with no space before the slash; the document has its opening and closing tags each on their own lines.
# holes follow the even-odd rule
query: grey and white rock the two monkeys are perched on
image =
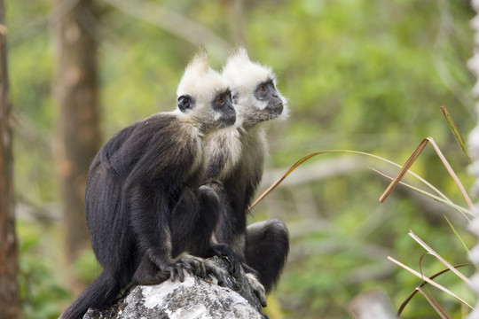
<svg viewBox="0 0 479 319">
<path fill-rule="evenodd" d="M 225 271 L 227 261 L 218 257 L 210 259 Z M 151 286 L 137 286 L 113 307 L 98 311 L 90 309 L 83 319 L 224 319 L 268 318 L 261 311 L 256 298 L 241 270 L 240 276 L 227 276 L 222 286 L 214 276 L 207 279 L 187 275 L 185 282 L 167 280 Z"/>
</svg>

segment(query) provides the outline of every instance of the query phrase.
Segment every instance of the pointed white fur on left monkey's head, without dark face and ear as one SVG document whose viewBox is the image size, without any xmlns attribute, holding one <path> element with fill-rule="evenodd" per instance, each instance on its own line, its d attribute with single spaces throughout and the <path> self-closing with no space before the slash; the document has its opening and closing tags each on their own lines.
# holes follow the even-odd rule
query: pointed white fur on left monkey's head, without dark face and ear
<svg viewBox="0 0 479 319">
<path fill-rule="evenodd" d="M 215 128 L 217 120 L 221 117 L 211 108 L 211 102 L 216 94 L 228 89 L 228 82 L 224 77 L 213 70 L 208 64 L 208 54 L 201 50 L 186 66 L 185 74 L 177 87 L 177 97 L 190 95 L 193 97 L 195 106 L 192 111 L 178 114 L 186 118 L 194 118 L 209 129 Z"/>
</svg>

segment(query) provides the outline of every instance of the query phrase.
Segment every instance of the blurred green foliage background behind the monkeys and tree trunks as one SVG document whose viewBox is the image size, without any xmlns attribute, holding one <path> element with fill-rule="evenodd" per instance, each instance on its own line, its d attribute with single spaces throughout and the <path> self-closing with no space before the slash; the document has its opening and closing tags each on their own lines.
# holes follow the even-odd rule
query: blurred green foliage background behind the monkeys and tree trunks
<svg viewBox="0 0 479 319">
<path fill-rule="evenodd" d="M 178 32 L 185 26 L 173 23 L 175 13 L 195 24 L 198 35 L 192 36 L 204 43 L 216 69 L 228 48 L 244 43 L 250 58 L 278 74 L 291 114 L 270 128 L 271 155 L 262 190 L 310 152 L 348 149 L 403 164 L 427 136 L 434 137 L 466 188 L 472 185 L 467 159 L 439 110 L 447 107 L 464 136 L 475 126 L 474 78 L 467 71 L 474 13 L 468 1 L 132 3 L 96 3 L 101 12 L 94 23 L 104 142 L 134 121 L 175 107 L 177 82 L 198 49 L 198 43 Z M 56 58 L 51 27 L 58 12 L 48 0 L 7 0 L 6 9 L 24 313 L 26 318 L 56 318 L 74 299 L 72 286 L 82 287 L 98 274 L 90 249 L 73 266 L 62 257 L 65 234 L 51 152 L 59 116 L 52 97 Z M 170 13 L 162 16 L 165 10 Z M 269 301 L 272 318 L 349 317 L 349 301 L 372 289 L 385 292 L 397 309 L 420 279 L 386 257 L 418 270 L 425 253 L 407 235 L 409 230 L 452 264 L 467 262 L 444 219 L 446 215 L 471 247 L 474 238 L 457 212 L 405 188 L 380 204 L 388 182 L 368 167 L 397 173 L 397 167 L 365 156 L 321 155 L 255 207 L 251 222 L 278 217 L 290 229 L 287 268 Z M 412 171 L 466 206 L 432 148 Z M 444 266 L 425 257 L 421 268 L 432 275 Z M 463 272 L 471 275 L 473 269 Z M 474 302 L 457 277 L 447 274 L 438 282 Z M 431 293 L 452 317 L 467 313 L 452 297 Z M 418 294 L 404 317 L 437 314 Z"/>
</svg>

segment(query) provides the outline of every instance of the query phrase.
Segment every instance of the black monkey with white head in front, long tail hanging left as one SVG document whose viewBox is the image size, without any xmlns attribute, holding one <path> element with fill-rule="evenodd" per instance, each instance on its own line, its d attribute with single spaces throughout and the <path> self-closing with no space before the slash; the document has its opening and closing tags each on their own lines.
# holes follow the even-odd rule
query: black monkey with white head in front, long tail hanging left
<svg viewBox="0 0 479 319">
<path fill-rule="evenodd" d="M 236 120 L 232 95 L 200 51 L 177 87 L 177 109 L 123 128 L 93 159 L 85 191 L 93 252 L 102 272 L 60 316 L 111 306 L 130 284 L 205 276 L 220 183 L 202 181 L 202 140 Z"/>
</svg>

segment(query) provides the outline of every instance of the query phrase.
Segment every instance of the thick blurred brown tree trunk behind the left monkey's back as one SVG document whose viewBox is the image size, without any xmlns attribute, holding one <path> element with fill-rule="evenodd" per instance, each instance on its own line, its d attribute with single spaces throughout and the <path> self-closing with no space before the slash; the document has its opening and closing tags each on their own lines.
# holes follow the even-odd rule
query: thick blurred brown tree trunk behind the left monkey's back
<svg viewBox="0 0 479 319">
<path fill-rule="evenodd" d="M 62 10 L 55 24 L 58 66 L 55 97 L 60 114 L 54 157 L 59 178 L 62 211 L 67 232 L 67 261 L 89 246 L 84 194 L 90 162 L 100 143 L 97 88 L 96 19 L 92 0 Z"/>
</svg>

